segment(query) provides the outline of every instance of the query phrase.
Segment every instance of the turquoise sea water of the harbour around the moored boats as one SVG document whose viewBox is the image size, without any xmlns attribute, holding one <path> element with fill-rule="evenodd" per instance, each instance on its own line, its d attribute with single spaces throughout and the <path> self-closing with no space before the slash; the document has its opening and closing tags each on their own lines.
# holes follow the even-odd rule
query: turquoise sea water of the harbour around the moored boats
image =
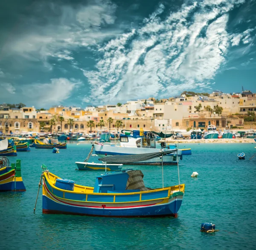
<svg viewBox="0 0 256 250">
<path fill-rule="evenodd" d="M 180 161 L 180 182 L 186 187 L 177 219 L 42 214 L 42 189 L 34 214 L 42 163 L 81 185 L 93 186 L 102 172 L 75 170 L 75 161 L 86 158 L 90 143 L 68 144 L 58 154 L 35 148 L 18 152 L 9 160 L 21 159 L 27 190 L 0 193 L 0 249 L 255 249 L 256 157 L 249 160 L 255 146 L 180 144 L 192 148 L 192 155 Z M 238 160 L 241 151 L 245 160 Z M 133 168 L 143 171 L 147 187 L 161 187 L 161 167 Z M 191 177 L 193 171 L 198 178 Z M 164 183 L 178 184 L 176 166 L 164 166 Z M 215 223 L 219 231 L 201 233 L 202 222 Z"/>
</svg>

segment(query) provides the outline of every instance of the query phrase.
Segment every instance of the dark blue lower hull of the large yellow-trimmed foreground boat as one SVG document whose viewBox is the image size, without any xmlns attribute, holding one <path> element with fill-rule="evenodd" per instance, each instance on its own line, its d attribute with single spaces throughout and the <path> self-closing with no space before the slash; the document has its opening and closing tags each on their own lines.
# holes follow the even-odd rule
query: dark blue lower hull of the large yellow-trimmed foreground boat
<svg viewBox="0 0 256 250">
<path fill-rule="evenodd" d="M 43 213 L 61 213 L 87 216 L 105 217 L 177 217 L 182 200 L 175 199 L 173 202 L 164 205 L 138 208 L 106 209 L 88 208 L 63 205 L 43 196 Z"/>
</svg>

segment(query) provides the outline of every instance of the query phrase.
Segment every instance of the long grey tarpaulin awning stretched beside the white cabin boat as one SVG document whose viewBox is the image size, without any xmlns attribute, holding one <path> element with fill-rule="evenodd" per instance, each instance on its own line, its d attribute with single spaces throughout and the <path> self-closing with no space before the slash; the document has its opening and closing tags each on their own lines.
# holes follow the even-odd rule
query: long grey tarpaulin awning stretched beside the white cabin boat
<svg viewBox="0 0 256 250">
<path fill-rule="evenodd" d="M 160 157 L 163 154 L 170 154 L 176 152 L 177 149 L 168 150 L 168 151 L 159 151 L 156 153 L 140 153 L 140 154 L 127 154 L 127 155 L 113 155 L 99 158 L 99 161 L 102 162 L 111 162 L 111 163 L 129 163 L 129 162 L 143 162 L 150 160 L 156 157 Z"/>
</svg>

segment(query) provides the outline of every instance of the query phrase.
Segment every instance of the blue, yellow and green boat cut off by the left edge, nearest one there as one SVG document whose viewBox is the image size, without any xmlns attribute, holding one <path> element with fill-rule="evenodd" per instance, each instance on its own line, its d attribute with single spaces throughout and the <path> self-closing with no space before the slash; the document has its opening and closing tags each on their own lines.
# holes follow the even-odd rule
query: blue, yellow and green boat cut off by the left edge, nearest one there
<svg viewBox="0 0 256 250">
<path fill-rule="evenodd" d="M 4 158 L 0 156 L 0 191 L 26 191 L 21 177 L 21 160 L 9 167 L 9 161 Z"/>
</svg>

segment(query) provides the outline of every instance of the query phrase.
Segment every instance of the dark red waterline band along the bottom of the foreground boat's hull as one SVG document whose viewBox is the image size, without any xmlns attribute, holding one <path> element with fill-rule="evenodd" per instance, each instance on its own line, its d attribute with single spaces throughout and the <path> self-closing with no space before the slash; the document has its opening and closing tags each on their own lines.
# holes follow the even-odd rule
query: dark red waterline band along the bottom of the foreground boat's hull
<svg viewBox="0 0 256 250">
<path fill-rule="evenodd" d="M 86 213 L 71 213 L 71 212 L 64 212 L 64 211 L 58 211 L 58 210 L 48 210 L 43 209 L 43 213 L 47 214 L 69 214 L 69 215 L 80 215 L 80 216 L 94 216 L 94 217 L 119 217 L 119 218 L 134 218 L 134 217 L 174 217 L 177 218 L 177 213 L 170 213 L 170 214 L 161 214 L 161 215 L 145 215 L 145 216 L 110 216 L 110 215 L 94 215 L 94 214 L 86 214 Z"/>
</svg>

